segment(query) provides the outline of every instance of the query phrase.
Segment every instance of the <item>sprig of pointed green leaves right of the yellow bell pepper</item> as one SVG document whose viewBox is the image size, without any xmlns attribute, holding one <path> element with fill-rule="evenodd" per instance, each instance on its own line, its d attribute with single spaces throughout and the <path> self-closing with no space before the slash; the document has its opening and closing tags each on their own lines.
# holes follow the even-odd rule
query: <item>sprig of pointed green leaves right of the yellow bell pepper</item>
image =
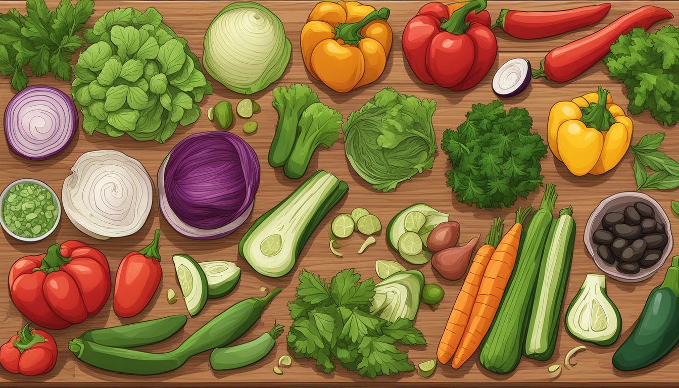
<svg viewBox="0 0 679 388">
<path fill-rule="evenodd" d="M 679 187 L 679 163 L 657 149 L 663 139 L 664 133 L 654 133 L 629 147 L 634 156 L 632 169 L 637 190 L 672 190 Z M 655 172 L 648 175 L 646 168 Z"/>
</svg>

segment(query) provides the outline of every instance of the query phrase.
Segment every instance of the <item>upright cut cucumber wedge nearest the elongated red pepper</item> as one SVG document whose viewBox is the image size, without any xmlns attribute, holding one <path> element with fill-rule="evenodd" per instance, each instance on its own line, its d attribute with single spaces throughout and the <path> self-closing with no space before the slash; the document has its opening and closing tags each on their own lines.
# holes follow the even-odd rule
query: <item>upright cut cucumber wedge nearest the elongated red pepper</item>
<svg viewBox="0 0 679 388">
<path fill-rule="evenodd" d="M 189 255 L 178 253 L 172 256 L 177 281 L 184 296 L 184 303 L 191 317 L 202 311 L 208 300 L 208 280 L 200 265 Z"/>
</svg>

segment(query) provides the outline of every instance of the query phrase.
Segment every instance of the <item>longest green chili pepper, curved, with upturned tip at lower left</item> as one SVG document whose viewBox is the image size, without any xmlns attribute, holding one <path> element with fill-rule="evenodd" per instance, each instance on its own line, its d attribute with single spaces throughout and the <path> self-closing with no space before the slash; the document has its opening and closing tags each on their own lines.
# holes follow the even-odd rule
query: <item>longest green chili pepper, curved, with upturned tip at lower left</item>
<svg viewBox="0 0 679 388">
<path fill-rule="evenodd" d="M 264 298 L 241 300 L 210 319 L 177 349 L 166 353 L 108 347 L 80 338 L 69 341 L 69 350 L 80 361 L 111 372 L 141 375 L 170 372 L 198 353 L 224 347 L 240 338 L 259 319 L 264 307 L 279 293 L 280 288 L 276 287 Z"/>
</svg>

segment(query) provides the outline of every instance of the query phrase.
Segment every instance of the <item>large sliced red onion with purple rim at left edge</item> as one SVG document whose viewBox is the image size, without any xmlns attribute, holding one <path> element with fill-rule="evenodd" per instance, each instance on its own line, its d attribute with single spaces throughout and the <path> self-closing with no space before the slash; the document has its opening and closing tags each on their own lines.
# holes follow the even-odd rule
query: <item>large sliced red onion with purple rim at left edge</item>
<svg viewBox="0 0 679 388">
<path fill-rule="evenodd" d="M 71 143 L 77 126 L 73 101 L 50 86 L 25 88 L 5 109 L 7 144 L 24 158 L 43 159 L 58 154 Z"/>
</svg>

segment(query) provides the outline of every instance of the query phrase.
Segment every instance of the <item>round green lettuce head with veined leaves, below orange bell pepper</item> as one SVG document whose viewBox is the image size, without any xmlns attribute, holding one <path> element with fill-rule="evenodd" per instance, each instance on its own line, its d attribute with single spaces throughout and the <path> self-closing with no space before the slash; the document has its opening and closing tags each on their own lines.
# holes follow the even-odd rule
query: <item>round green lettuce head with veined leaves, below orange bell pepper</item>
<svg viewBox="0 0 679 388">
<path fill-rule="evenodd" d="M 377 92 L 344 125 L 344 149 L 356 173 L 387 192 L 434 164 L 436 138 L 431 118 L 436 101 L 392 88 Z"/>
</svg>

